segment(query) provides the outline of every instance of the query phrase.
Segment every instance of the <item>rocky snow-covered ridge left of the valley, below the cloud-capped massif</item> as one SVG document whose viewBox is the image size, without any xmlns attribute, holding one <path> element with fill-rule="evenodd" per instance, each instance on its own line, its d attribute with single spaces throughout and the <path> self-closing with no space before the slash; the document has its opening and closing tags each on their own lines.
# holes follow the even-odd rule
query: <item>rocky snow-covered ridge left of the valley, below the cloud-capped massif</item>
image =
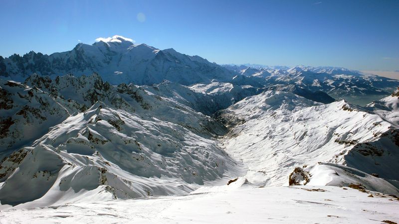
<svg viewBox="0 0 399 224">
<path fill-rule="evenodd" d="M 40 91 L 51 99 L 41 111 L 64 103 L 61 108 L 71 115 L 1 161 L 3 205 L 30 208 L 185 194 L 243 172 L 218 146 L 217 133 L 225 128 L 173 99 L 134 85 L 111 86 L 98 75 L 53 81 L 35 76 L 27 83 L 51 90 Z M 20 88 L 31 89 L 15 84 L 8 92 Z M 11 110 L 1 114 L 12 119 Z"/>
</svg>

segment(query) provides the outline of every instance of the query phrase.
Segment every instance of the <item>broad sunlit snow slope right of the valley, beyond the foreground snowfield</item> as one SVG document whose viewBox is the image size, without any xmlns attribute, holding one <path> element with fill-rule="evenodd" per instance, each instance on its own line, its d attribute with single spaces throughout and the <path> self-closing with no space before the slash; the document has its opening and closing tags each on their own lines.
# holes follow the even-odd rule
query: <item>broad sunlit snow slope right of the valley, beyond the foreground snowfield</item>
<svg viewBox="0 0 399 224">
<path fill-rule="evenodd" d="M 225 150 L 243 161 L 246 178 L 258 186 L 307 184 L 305 179 L 317 179 L 316 185 L 361 183 L 312 170 L 340 169 L 345 174 L 347 166 L 357 171 L 346 176 L 368 174 L 369 189 L 399 194 L 399 176 L 392 172 L 399 169 L 398 126 L 378 114 L 345 101 L 322 105 L 292 93 L 267 91 L 229 107 L 220 119 L 231 128 L 224 138 Z M 381 182 L 371 174 L 378 174 Z"/>
</svg>

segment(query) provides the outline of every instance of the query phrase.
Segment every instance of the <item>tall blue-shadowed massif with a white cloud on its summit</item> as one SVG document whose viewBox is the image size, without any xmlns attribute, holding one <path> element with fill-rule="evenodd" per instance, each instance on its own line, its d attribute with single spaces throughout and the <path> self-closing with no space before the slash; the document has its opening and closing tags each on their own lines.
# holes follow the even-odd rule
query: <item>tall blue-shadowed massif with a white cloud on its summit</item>
<svg viewBox="0 0 399 224">
<path fill-rule="evenodd" d="M 71 51 L 43 55 L 33 51 L 22 57 L 0 57 L 0 78 L 24 81 L 33 73 L 50 76 L 101 74 L 111 84 L 151 85 L 169 80 L 184 85 L 212 79 L 229 81 L 237 74 L 200 56 L 181 54 L 174 49 L 159 50 L 133 44 L 122 36 L 101 39 L 92 45 L 79 43 Z"/>
</svg>

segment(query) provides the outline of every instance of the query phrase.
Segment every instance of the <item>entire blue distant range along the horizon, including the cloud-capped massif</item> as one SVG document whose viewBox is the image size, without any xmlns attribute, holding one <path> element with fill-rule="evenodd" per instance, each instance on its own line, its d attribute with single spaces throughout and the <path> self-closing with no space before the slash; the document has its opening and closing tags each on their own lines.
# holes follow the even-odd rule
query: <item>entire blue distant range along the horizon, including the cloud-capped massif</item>
<svg viewBox="0 0 399 224">
<path fill-rule="evenodd" d="M 297 90 L 297 94 L 306 92 L 301 96 L 324 92 L 332 97 L 322 99 L 320 102 L 323 103 L 342 98 L 360 105 L 389 95 L 399 86 L 398 80 L 365 76 L 345 68 L 256 64 L 220 66 L 172 48 L 159 50 L 146 44 L 133 44 L 131 39 L 122 36 L 113 36 L 92 45 L 79 43 L 71 51 L 50 55 L 31 51 L 23 56 L 0 56 L 1 79 L 23 82 L 34 73 L 51 79 L 65 74 L 87 76 L 98 73 L 112 85 L 153 85 L 165 80 L 186 86 L 209 84 L 213 80 L 265 90 L 294 85 L 295 88 L 288 89 Z"/>
</svg>

